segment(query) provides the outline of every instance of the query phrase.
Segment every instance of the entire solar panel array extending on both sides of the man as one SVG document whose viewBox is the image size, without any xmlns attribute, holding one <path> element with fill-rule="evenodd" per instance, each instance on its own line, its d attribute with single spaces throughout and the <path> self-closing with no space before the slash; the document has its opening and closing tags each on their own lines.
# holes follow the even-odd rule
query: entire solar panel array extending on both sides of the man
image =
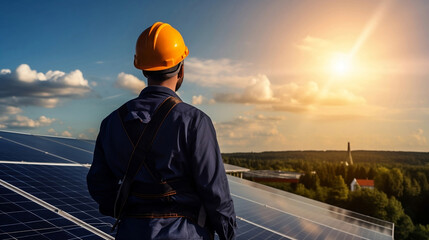
<svg viewBox="0 0 429 240">
<path fill-rule="evenodd" d="M 112 239 L 86 187 L 93 141 L 0 131 L 0 239 Z M 393 224 L 228 176 L 237 239 L 393 239 Z"/>
</svg>

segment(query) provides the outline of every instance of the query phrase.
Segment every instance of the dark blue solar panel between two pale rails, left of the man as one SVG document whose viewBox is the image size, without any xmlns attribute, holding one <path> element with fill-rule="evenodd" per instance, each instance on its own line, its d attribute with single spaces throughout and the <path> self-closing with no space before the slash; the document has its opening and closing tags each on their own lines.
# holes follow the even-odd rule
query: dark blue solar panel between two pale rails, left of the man
<svg viewBox="0 0 429 240">
<path fill-rule="evenodd" d="M 88 168 L 0 164 L 0 179 L 110 233 L 113 218 L 101 215 L 86 186 Z"/>
</svg>

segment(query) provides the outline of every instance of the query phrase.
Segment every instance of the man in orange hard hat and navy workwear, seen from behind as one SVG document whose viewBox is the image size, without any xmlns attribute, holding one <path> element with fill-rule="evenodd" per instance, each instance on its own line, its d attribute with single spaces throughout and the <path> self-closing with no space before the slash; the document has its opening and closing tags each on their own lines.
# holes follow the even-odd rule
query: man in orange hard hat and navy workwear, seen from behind
<svg viewBox="0 0 429 240">
<path fill-rule="evenodd" d="M 143 31 L 134 66 L 148 86 L 101 123 L 87 183 L 100 212 L 118 219 L 117 239 L 235 238 L 212 121 L 175 93 L 188 54 L 169 24 Z"/>
</svg>

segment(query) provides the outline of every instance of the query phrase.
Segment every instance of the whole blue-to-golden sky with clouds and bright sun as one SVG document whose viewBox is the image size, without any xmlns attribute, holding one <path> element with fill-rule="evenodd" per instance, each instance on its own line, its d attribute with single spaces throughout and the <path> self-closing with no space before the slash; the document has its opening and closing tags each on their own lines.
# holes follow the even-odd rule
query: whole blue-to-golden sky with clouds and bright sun
<svg viewBox="0 0 429 240">
<path fill-rule="evenodd" d="M 135 42 L 157 21 L 190 55 L 184 101 L 223 152 L 429 150 L 429 3 L 2 1 L 0 129 L 95 138 L 145 86 Z"/>
</svg>

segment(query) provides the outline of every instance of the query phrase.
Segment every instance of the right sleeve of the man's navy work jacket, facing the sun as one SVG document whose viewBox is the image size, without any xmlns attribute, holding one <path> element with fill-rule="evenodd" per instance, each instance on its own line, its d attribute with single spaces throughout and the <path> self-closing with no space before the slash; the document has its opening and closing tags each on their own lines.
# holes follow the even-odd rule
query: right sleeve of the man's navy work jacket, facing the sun
<svg viewBox="0 0 429 240">
<path fill-rule="evenodd" d="M 193 145 L 193 175 L 208 219 L 220 239 L 235 239 L 236 218 L 228 179 L 209 117 L 196 128 Z"/>
</svg>

